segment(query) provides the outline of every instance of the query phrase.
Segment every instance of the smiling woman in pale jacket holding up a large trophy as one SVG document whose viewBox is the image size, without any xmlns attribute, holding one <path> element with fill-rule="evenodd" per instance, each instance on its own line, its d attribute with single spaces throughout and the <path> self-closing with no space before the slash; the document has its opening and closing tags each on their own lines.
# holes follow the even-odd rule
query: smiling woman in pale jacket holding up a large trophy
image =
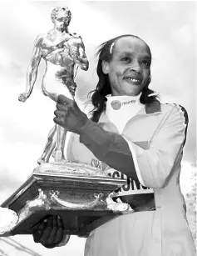
<svg viewBox="0 0 197 256">
<path fill-rule="evenodd" d="M 155 197 L 135 213 L 91 232 L 86 240 L 88 256 L 195 255 L 179 182 L 188 116 L 185 108 L 160 103 L 148 88 L 150 63 L 150 48 L 143 40 L 132 35 L 113 38 L 99 51 L 91 120 L 74 101 L 58 98 L 54 122 L 72 132 L 68 160 L 86 159 L 91 164 L 96 158 L 106 173 L 114 169 L 124 173 L 152 188 Z M 121 199 L 132 205 L 130 195 Z M 33 236 L 47 248 L 60 245 L 61 219 L 46 218 Z"/>
</svg>

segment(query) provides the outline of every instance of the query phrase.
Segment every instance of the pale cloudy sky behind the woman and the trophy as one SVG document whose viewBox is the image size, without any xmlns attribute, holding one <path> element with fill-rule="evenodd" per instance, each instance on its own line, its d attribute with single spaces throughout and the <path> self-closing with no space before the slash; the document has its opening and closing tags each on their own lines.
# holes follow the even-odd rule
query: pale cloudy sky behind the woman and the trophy
<svg viewBox="0 0 197 256">
<path fill-rule="evenodd" d="M 76 76 L 76 102 L 82 109 L 86 94 L 96 87 L 94 54 L 100 43 L 131 33 L 150 46 L 153 57 L 150 88 L 170 103 L 180 103 L 189 113 L 181 173 L 182 191 L 189 191 L 196 155 L 196 3 L 16 1 L 0 3 L 0 203 L 37 167 L 37 158 L 53 126 L 55 105 L 41 91 L 43 61 L 31 98 L 26 103 L 18 102 L 17 98 L 25 91 L 33 43 L 39 33 L 47 33 L 53 27 L 50 15 L 57 6 L 71 9 L 69 30 L 81 34 L 90 62 L 89 70 L 79 70 Z M 66 247 L 50 250 L 33 243 L 31 236 L 17 236 L 15 239 L 43 256 L 56 253 L 59 256 L 81 256 L 85 243 L 83 238 L 72 237 Z"/>
</svg>

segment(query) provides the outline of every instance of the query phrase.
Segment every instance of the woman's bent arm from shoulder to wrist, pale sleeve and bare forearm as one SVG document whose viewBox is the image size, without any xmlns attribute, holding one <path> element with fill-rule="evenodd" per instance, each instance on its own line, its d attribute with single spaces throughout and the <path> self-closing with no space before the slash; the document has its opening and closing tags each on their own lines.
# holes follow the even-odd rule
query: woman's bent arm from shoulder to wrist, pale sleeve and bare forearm
<svg viewBox="0 0 197 256">
<path fill-rule="evenodd" d="M 149 188 L 163 188 L 185 143 L 188 116 L 185 108 L 171 108 L 165 123 L 144 149 L 131 138 L 111 133 L 89 120 L 82 128 L 80 142 L 121 173 Z"/>
</svg>

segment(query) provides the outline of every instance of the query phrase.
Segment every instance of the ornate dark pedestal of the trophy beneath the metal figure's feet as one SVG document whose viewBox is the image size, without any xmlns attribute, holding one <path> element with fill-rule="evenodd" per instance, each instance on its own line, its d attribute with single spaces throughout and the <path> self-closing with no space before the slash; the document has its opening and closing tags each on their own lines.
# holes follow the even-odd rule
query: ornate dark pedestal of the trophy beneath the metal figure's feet
<svg viewBox="0 0 197 256">
<path fill-rule="evenodd" d="M 31 234 L 46 215 L 62 217 L 65 233 L 88 236 L 111 218 L 131 211 L 112 200 L 113 191 L 126 180 L 111 178 L 100 169 L 81 163 L 42 163 L 12 194 L 2 208 L 17 213 L 17 223 L 0 236 Z"/>
</svg>

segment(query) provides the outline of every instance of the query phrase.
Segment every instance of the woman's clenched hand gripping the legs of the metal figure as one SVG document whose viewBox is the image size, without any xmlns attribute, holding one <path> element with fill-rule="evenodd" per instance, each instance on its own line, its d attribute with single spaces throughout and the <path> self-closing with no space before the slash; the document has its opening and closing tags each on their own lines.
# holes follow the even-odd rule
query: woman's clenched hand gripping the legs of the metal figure
<svg viewBox="0 0 197 256">
<path fill-rule="evenodd" d="M 56 118 L 53 121 L 72 133 L 80 134 L 81 128 L 88 121 L 86 114 L 80 110 L 76 102 L 62 94 L 57 98 L 57 110 L 54 114 Z"/>
</svg>

